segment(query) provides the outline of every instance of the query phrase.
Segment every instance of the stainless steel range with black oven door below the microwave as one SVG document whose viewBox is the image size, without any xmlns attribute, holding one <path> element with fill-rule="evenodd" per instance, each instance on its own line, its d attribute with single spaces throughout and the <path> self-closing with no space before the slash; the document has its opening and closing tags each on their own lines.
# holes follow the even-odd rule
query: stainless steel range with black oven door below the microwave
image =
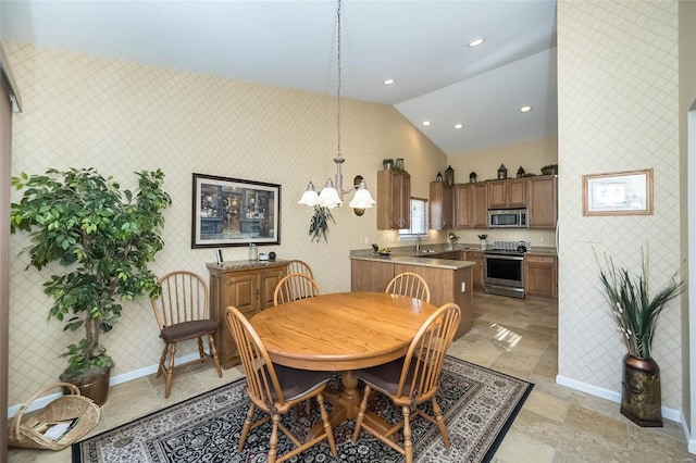
<svg viewBox="0 0 696 463">
<path fill-rule="evenodd" d="M 529 241 L 495 241 L 484 252 L 484 290 L 524 299 L 524 253 Z"/>
</svg>

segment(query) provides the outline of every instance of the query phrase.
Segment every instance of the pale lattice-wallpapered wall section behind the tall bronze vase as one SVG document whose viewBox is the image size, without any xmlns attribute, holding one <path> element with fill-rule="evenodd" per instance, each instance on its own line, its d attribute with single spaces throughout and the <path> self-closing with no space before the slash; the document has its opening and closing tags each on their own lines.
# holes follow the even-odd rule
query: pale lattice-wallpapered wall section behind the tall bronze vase
<svg viewBox="0 0 696 463">
<path fill-rule="evenodd" d="M 599 290 L 593 248 L 650 285 L 680 268 L 678 2 L 558 2 L 559 376 L 621 390 L 625 353 Z M 651 167 L 655 213 L 582 215 L 582 175 Z M 662 313 L 654 355 L 662 404 L 682 406 L 679 303 Z"/>
</svg>

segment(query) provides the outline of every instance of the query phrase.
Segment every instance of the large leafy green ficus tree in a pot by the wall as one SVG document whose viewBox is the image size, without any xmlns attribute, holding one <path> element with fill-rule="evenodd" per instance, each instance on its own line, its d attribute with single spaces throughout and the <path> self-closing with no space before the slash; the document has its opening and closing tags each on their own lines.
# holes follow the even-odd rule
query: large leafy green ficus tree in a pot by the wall
<svg viewBox="0 0 696 463">
<path fill-rule="evenodd" d="M 121 190 L 94 168 L 12 178 L 24 192 L 12 203 L 11 232 L 30 234 L 32 246 L 23 250 L 29 253 L 27 268 L 61 265 L 51 266 L 53 275 L 44 284 L 53 299 L 48 317 L 64 322 L 64 330 L 84 329 L 85 337 L 60 355 L 67 359 L 61 380 L 100 405 L 114 365 L 100 334 L 121 317 L 121 301 L 160 290 L 148 263 L 163 247 L 163 210 L 172 200 L 160 170 L 137 175 L 136 191 Z"/>
</svg>

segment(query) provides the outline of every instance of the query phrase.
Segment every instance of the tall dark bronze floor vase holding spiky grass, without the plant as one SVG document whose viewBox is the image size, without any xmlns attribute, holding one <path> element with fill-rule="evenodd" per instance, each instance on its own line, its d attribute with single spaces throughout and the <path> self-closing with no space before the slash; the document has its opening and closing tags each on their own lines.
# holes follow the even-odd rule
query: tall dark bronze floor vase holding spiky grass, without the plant
<svg viewBox="0 0 696 463">
<path fill-rule="evenodd" d="M 621 414 L 643 427 L 662 427 L 660 367 L 652 359 L 623 358 Z"/>
</svg>

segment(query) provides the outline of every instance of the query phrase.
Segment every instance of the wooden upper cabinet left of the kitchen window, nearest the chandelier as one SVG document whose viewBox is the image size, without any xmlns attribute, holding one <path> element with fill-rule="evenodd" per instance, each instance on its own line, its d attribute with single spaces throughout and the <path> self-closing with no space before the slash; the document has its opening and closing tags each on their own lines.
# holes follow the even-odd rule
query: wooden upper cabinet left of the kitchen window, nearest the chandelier
<svg viewBox="0 0 696 463">
<path fill-rule="evenodd" d="M 406 172 L 377 172 L 377 229 L 411 225 L 411 176 Z"/>
</svg>

